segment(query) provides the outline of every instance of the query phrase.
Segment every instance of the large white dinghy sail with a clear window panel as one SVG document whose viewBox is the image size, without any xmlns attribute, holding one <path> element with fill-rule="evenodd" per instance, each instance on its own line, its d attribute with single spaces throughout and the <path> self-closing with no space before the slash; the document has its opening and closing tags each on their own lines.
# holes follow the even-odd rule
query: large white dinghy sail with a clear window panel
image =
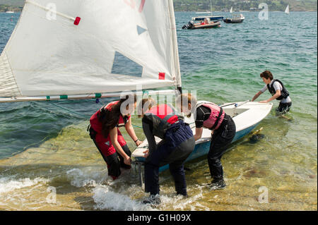
<svg viewBox="0 0 318 225">
<path fill-rule="evenodd" d="M 0 56 L 0 97 L 137 85 L 181 87 L 172 0 L 27 0 Z"/>
</svg>

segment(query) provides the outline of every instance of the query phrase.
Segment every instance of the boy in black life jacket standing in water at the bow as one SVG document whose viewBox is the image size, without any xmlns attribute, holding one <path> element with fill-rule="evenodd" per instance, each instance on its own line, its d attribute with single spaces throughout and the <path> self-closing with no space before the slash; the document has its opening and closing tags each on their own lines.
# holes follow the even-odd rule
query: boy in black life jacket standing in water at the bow
<svg viewBox="0 0 318 225">
<path fill-rule="evenodd" d="M 292 105 L 291 99 L 289 97 L 289 92 L 284 87 L 281 80 L 273 79 L 273 74 L 271 71 L 264 71 L 261 73 L 261 78 L 263 79 L 263 82 L 266 84 L 259 92 L 257 92 L 256 95 L 254 95 L 252 102 L 254 102 L 255 99 L 259 97 L 259 95 L 263 94 L 266 90 L 269 90 L 272 97 L 261 101 L 260 103 L 267 103 L 271 102 L 273 99 L 276 99 L 279 102 L 279 106 L 276 109 L 276 114 L 285 114 L 290 110 L 290 107 Z"/>
</svg>

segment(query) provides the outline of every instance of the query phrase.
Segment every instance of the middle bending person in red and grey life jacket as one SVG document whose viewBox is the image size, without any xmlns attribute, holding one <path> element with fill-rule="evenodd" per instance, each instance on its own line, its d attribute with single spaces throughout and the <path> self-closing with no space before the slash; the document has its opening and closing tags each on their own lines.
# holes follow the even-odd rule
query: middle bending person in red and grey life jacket
<svg viewBox="0 0 318 225">
<path fill-rule="evenodd" d="M 184 176 L 184 161 L 194 150 L 194 137 L 189 124 L 167 104 L 156 105 L 153 99 L 143 99 L 141 107 L 143 132 L 148 140 L 149 149 L 145 157 L 145 191 L 150 193 L 144 204 L 158 205 L 159 167 L 169 164 L 170 174 L 175 181 L 177 195 L 187 196 Z M 143 113 L 144 112 L 144 113 Z M 162 140 L 155 142 L 155 136 Z"/>
</svg>

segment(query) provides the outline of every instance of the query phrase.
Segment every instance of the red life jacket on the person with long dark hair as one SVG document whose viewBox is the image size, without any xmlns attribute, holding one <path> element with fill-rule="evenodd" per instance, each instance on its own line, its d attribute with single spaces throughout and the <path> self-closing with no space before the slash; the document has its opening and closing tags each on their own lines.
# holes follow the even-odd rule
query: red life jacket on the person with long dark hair
<svg viewBox="0 0 318 225">
<path fill-rule="evenodd" d="M 90 117 L 90 126 L 98 133 L 100 133 L 102 131 L 102 123 L 100 123 L 100 114 L 103 110 L 108 110 L 111 111 L 112 110 L 112 106 L 114 104 L 117 104 L 119 101 L 115 101 L 115 102 L 110 102 L 109 104 L 107 104 L 106 106 L 100 108 L 98 111 L 95 112 L 95 114 L 93 114 L 93 116 Z M 131 116 L 119 116 L 119 121 L 117 123 L 117 127 L 122 127 L 125 126 L 127 121 L 129 121 L 129 118 Z"/>
</svg>

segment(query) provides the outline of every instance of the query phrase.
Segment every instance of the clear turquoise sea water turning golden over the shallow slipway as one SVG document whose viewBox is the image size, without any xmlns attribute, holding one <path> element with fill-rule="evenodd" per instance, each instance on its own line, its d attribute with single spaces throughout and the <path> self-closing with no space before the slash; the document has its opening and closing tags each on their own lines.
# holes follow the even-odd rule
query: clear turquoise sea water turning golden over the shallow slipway
<svg viewBox="0 0 318 225">
<path fill-rule="evenodd" d="M 204 158 L 187 164 L 187 200 L 172 195 L 172 179 L 163 173 L 159 209 L 317 210 L 317 12 L 270 12 L 269 20 L 244 15 L 241 24 L 182 30 L 196 15 L 176 13 L 183 88 L 218 104 L 245 101 L 264 86 L 259 73 L 270 70 L 290 92 L 288 119 L 275 116 L 278 102 L 273 102 L 258 127 L 265 138 L 230 146 L 222 159 L 228 184 L 223 191 L 203 185 L 210 182 Z M 0 51 L 18 16 L 11 21 L 0 13 Z M 269 97 L 266 92 L 258 100 Z M 0 209 L 148 210 L 139 204 L 144 194 L 136 178 L 107 180 L 105 163 L 86 133 L 88 118 L 101 104 L 54 104 L 0 104 Z M 136 133 L 143 137 L 138 128 Z M 55 205 L 45 202 L 48 186 L 57 187 Z M 257 201 L 261 186 L 269 189 L 269 204 Z"/>
</svg>

